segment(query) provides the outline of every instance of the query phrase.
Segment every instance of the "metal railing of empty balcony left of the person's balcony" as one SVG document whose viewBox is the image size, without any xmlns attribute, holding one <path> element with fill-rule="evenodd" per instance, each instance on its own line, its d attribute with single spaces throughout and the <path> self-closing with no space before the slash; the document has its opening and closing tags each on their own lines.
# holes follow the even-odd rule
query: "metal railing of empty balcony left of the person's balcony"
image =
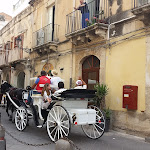
<svg viewBox="0 0 150 150">
<path fill-rule="evenodd" d="M 33 47 L 58 42 L 59 25 L 49 24 L 33 33 Z"/>
</svg>

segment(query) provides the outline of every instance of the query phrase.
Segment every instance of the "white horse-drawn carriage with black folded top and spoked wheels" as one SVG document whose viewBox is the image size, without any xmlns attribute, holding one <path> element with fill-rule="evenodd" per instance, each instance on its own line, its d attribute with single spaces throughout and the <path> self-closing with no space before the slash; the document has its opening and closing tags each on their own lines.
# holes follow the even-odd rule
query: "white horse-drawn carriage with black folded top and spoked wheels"
<svg viewBox="0 0 150 150">
<path fill-rule="evenodd" d="M 19 131 L 23 131 L 28 125 L 28 121 L 33 118 L 30 106 L 27 106 L 25 100 L 28 92 L 23 93 L 24 105 L 16 105 L 6 92 L 9 100 L 15 106 L 15 125 Z M 100 138 L 105 129 L 105 118 L 102 111 L 96 106 L 89 106 L 88 101 L 93 99 L 95 91 L 93 90 L 66 90 L 57 100 L 52 100 L 53 106 L 47 109 L 47 132 L 52 141 L 68 137 L 71 125 L 81 126 L 83 132 L 92 139 Z M 37 114 L 40 120 L 42 116 L 43 98 L 39 94 L 32 94 L 33 106 L 37 107 Z"/>
</svg>

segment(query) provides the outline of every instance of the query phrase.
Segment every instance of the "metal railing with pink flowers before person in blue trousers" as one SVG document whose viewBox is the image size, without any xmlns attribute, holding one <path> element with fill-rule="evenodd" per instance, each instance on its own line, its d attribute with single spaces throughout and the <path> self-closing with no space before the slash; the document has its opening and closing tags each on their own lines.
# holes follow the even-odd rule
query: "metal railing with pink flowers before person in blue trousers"
<svg viewBox="0 0 150 150">
<path fill-rule="evenodd" d="M 94 23 L 108 23 L 109 0 L 93 0 L 66 16 L 66 35 Z"/>
</svg>

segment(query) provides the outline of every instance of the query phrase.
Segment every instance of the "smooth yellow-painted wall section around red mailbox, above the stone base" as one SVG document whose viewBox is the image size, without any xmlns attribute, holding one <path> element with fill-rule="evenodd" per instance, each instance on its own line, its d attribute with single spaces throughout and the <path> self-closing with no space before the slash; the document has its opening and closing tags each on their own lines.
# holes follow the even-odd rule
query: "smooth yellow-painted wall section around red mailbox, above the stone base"
<svg viewBox="0 0 150 150">
<path fill-rule="evenodd" d="M 119 40 L 119 39 L 118 39 Z M 108 106 L 122 110 L 123 85 L 137 85 L 138 112 L 145 111 L 145 38 L 124 41 L 112 46 L 106 55 L 106 84 L 110 91 Z"/>
</svg>

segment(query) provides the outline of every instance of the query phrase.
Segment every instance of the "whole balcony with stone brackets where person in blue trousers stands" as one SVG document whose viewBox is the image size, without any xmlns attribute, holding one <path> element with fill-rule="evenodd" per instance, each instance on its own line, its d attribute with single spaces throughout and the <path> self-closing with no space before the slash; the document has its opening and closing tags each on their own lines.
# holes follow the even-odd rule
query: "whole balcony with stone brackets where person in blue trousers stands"
<svg viewBox="0 0 150 150">
<path fill-rule="evenodd" d="M 95 37 L 105 39 L 109 16 L 108 0 L 94 0 L 79 7 L 66 16 L 66 37 L 72 39 L 74 45 Z"/>
</svg>

